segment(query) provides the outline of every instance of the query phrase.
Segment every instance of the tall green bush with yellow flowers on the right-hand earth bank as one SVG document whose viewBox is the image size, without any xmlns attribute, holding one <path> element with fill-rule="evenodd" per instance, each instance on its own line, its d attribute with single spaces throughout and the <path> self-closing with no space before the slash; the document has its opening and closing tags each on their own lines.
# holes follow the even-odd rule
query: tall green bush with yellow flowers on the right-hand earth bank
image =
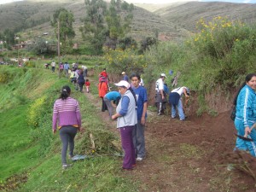
<svg viewBox="0 0 256 192">
<path fill-rule="evenodd" d="M 211 57 L 216 63 L 218 72 L 214 79 L 215 84 L 232 86 L 239 76 L 253 70 L 255 59 L 255 26 L 247 26 L 240 21 L 231 22 L 220 16 L 212 21 L 198 22 L 201 32 L 191 41 L 200 60 Z"/>
</svg>

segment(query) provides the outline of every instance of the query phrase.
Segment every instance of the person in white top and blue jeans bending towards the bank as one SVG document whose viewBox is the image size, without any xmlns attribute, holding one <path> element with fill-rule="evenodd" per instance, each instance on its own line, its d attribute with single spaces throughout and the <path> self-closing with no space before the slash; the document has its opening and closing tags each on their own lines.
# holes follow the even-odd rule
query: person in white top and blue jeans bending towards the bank
<svg viewBox="0 0 256 192">
<path fill-rule="evenodd" d="M 169 94 L 169 104 L 172 107 L 172 118 L 176 117 L 176 108 L 180 120 L 185 120 L 185 115 L 183 112 L 183 102 L 181 100 L 182 96 L 186 99 L 189 98 L 189 88 L 188 87 L 178 87 L 171 91 Z"/>
</svg>

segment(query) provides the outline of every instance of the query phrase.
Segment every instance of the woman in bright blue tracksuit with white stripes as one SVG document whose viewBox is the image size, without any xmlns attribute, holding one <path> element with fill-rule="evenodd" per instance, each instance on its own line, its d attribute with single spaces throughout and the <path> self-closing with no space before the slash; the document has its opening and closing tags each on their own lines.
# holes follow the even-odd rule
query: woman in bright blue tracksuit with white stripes
<svg viewBox="0 0 256 192">
<path fill-rule="evenodd" d="M 256 156 L 256 130 L 252 129 L 256 123 L 256 73 L 247 74 L 245 82 L 241 85 L 234 104 L 236 105 L 235 127 L 237 135 L 248 137 L 253 141 L 236 138 L 236 149 L 249 151 Z"/>
</svg>

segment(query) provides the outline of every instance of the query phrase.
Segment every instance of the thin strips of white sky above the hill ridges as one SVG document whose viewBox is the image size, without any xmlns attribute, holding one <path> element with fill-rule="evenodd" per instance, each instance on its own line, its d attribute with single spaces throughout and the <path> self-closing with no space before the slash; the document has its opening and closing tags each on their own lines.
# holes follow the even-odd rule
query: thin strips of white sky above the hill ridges
<svg viewBox="0 0 256 192">
<path fill-rule="evenodd" d="M 14 1 L 22 1 L 22 0 L 0 0 L 0 4 L 10 3 Z M 54 0 L 53 0 L 54 1 Z M 125 0 L 128 3 L 175 3 L 175 2 L 185 2 L 188 0 Z M 256 3 L 256 0 L 189 0 L 189 1 L 199 1 L 199 2 L 232 2 L 232 3 Z"/>
</svg>

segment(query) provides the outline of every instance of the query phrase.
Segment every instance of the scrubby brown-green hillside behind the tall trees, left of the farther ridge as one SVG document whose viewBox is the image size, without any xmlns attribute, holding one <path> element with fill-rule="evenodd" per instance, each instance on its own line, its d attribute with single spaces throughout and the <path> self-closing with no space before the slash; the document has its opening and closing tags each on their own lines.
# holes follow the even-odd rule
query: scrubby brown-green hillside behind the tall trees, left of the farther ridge
<svg viewBox="0 0 256 192">
<path fill-rule="evenodd" d="M 54 28 L 50 26 L 54 11 L 59 8 L 65 8 L 73 12 L 75 22 L 73 24 L 76 32 L 75 41 L 81 41 L 79 26 L 83 23 L 81 19 L 85 16 L 84 0 L 72 1 L 22 1 L 0 5 L 0 32 L 5 29 L 23 29 L 26 38 L 36 38 L 42 36 L 44 32 L 49 32 L 51 38 L 55 38 Z M 154 36 L 155 32 L 164 32 L 170 34 L 172 39 L 184 37 L 186 30 L 173 25 L 160 16 L 137 8 L 133 12 L 133 22 L 131 24 L 130 35 L 137 39 Z M 9 20 L 9 22 L 6 22 Z"/>
</svg>

